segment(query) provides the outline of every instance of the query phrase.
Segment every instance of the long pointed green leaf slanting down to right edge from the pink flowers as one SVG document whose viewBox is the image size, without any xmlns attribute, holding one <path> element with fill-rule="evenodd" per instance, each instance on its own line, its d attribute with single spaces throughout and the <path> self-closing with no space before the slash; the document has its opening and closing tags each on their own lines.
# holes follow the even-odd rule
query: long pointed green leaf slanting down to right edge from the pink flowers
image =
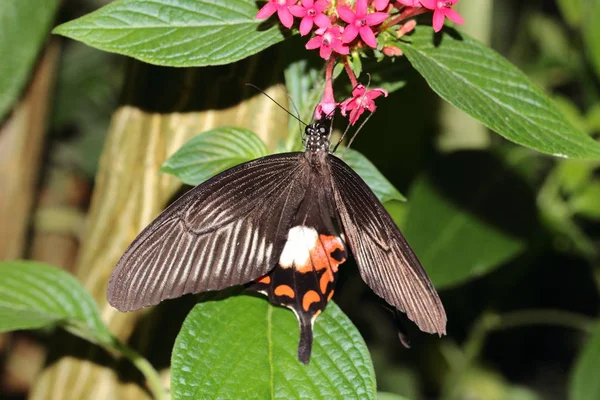
<svg viewBox="0 0 600 400">
<path fill-rule="evenodd" d="M 442 98 L 505 138 L 558 157 L 600 159 L 600 144 L 498 53 L 452 29 L 417 26 L 398 45 Z"/>
</svg>

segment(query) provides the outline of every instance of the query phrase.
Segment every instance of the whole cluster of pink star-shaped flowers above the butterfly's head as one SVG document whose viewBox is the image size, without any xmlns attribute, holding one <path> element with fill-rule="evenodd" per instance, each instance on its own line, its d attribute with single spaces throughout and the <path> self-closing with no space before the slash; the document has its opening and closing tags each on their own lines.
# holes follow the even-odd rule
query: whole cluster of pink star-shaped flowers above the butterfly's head
<svg viewBox="0 0 600 400">
<path fill-rule="evenodd" d="M 414 29 L 416 15 L 433 12 L 433 29 L 442 29 L 446 18 L 462 24 L 462 17 L 452 9 L 459 0 L 268 0 L 256 18 L 265 19 L 277 13 L 283 26 L 291 28 L 294 18 L 300 18 L 300 35 L 306 36 L 314 29 L 314 36 L 306 43 L 308 50 L 319 49 L 319 55 L 328 61 L 325 76 L 325 93 L 315 110 L 315 118 L 330 116 L 340 107 L 342 115 L 349 115 L 355 124 L 364 110 L 375 111 L 374 99 L 387 96 L 383 89 L 367 90 L 358 83 L 347 55 L 351 49 L 377 48 L 379 33 L 398 27 L 400 37 Z M 333 3 L 333 4 L 332 4 Z M 380 49 L 386 56 L 398 56 L 402 51 L 395 46 Z M 333 98 L 332 71 L 336 58 L 341 57 L 354 87 L 352 97 L 336 103 Z"/>
</svg>

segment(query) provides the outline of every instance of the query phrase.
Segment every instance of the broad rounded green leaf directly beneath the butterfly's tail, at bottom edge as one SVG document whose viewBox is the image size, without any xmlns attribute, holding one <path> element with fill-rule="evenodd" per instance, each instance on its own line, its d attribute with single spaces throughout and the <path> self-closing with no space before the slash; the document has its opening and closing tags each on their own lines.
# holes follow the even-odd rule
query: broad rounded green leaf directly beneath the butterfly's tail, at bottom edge
<svg viewBox="0 0 600 400">
<path fill-rule="evenodd" d="M 255 296 L 200 303 L 173 348 L 173 399 L 374 399 L 369 352 L 350 320 L 331 302 L 314 329 L 304 365 L 289 310 Z"/>
</svg>

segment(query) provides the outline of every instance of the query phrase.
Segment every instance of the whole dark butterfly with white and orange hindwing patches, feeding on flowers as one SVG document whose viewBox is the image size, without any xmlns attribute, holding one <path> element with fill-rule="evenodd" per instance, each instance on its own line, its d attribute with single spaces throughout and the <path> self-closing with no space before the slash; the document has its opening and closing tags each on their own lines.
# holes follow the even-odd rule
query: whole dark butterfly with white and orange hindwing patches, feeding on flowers
<svg viewBox="0 0 600 400">
<path fill-rule="evenodd" d="M 445 334 L 442 303 L 400 230 L 360 176 L 330 152 L 326 119 L 305 128 L 304 152 L 230 168 L 191 189 L 127 248 L 108 302 L 133 311 L 187 293 L 245 285 L 290 308 L 298 359 L 352 254 L 367 285 L 425 332 Z"/>
</svg>

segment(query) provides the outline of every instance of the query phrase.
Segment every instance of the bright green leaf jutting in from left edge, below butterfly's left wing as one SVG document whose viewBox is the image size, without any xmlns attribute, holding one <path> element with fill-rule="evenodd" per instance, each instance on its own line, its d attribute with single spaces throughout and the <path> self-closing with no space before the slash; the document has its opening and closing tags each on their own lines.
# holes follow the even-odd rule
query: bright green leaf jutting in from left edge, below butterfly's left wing
<svg viewBox="0 0 600 400">
<path fill-rule="evenodd" d="M 0 263 L 0 332 L 61 325 L 97 343 L 111 335 L 94 299 L 69 273 L 33 261 Z"/>
</svg>

